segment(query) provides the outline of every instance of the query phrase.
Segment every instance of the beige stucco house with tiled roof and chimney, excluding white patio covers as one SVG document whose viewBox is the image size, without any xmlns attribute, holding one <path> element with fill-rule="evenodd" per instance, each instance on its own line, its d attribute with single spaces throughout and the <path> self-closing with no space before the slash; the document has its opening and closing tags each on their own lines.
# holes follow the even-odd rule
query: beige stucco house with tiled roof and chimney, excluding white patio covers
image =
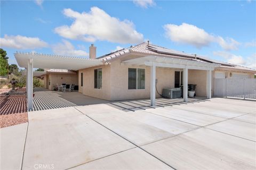
<svg viewBox="0 0 256 170">
<path fill-rule="evenodd" d="M 92 45 L 90 58 L 94 58 L 95 54 L 96 47 Z M 142 43 L 96 58 L 111 64 L 78 70 L 79 92 L 106 100 L 149 98 L 151 67 L 143 64 L 142 58 L 146 56 L 194 61 L 202 65 L 205 63 L 219 64 L 212 71 L 212 95 L 215 78 L 254 78 L 254 73 L 256 73 L 255 70 L 243 66 Z M 134 60 L 134 62 L 126 64 L 125 61 L 129 60 Z M 156 67 L 156 79 L 159 94 L 162 94 L 164 88 L 179 88 L 183 84 L 183 69 L 177 66 Z M 206 97 L 207 70 L 188 69 L 188 84 L 196 84 L 196 95 Z M 159 94 L 156 93 L 156 97 L 160 97 Z"/>
</svg>

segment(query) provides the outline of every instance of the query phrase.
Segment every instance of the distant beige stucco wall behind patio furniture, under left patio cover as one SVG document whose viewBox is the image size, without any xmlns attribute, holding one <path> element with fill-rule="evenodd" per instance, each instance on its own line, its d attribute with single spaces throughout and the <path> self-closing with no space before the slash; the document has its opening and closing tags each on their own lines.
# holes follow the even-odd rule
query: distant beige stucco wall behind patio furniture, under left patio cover
<svg viewBox="0 0 256 170">
<path fill-rule="evenodd" d="M 70 86 L 74 83 L 78 85 L 78 74 L 49 74 L 49 80 L 51 80 L 49 90 L 53 90 L 56 84 L 58 84 L 58 86 L 62 83 L 70 84 Z"/>
</svg>

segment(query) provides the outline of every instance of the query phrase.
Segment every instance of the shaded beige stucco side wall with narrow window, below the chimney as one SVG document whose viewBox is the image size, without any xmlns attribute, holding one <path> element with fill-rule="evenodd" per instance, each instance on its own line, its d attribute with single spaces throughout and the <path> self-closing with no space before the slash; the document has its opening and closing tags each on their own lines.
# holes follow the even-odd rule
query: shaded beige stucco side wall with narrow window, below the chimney
<svg viewBox="0 0 256 170">
<path fill-rule="evenodd" d="M 79 92 L 86 96 L 111 100 L 110 98 L 110 66 L 101 65 L 78 71 Z M 102 69 L 102 89 L 94 89 L 94 69 Z M 81 73 L 83 73 L 83 87 L 81 87 Z"/>
</svg>

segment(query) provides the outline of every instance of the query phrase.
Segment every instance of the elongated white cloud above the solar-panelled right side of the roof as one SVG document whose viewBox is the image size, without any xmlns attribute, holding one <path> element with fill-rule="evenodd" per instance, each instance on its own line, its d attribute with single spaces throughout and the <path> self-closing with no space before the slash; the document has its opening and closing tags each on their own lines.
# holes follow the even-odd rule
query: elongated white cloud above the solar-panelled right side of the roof
<svg viewBox="0 0 256 170">
<path fill-rule="evenodd" d="M 174 42 L 189 44 L 197 48 L 209 46 L 211 43 L 218 43 L 223 49 L 238 49 L 239 43 L 233 38 L 223 39 L 220 36 L 214 36 L 195 25 L 182 23 L 181 25 L 164 25 L 167 38 Z"/>
</svg>

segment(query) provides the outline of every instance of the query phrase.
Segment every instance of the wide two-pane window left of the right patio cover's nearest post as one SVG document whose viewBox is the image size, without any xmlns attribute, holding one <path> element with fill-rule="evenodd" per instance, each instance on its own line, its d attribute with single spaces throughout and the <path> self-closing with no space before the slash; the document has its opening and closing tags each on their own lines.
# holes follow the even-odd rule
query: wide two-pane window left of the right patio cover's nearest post
<svg viewBox="0 0 256 170">
<path fill-rule="evenodd" d="M 128 89 L 145 89 L 145 69 L 128 69 Z"/>
</svg>

